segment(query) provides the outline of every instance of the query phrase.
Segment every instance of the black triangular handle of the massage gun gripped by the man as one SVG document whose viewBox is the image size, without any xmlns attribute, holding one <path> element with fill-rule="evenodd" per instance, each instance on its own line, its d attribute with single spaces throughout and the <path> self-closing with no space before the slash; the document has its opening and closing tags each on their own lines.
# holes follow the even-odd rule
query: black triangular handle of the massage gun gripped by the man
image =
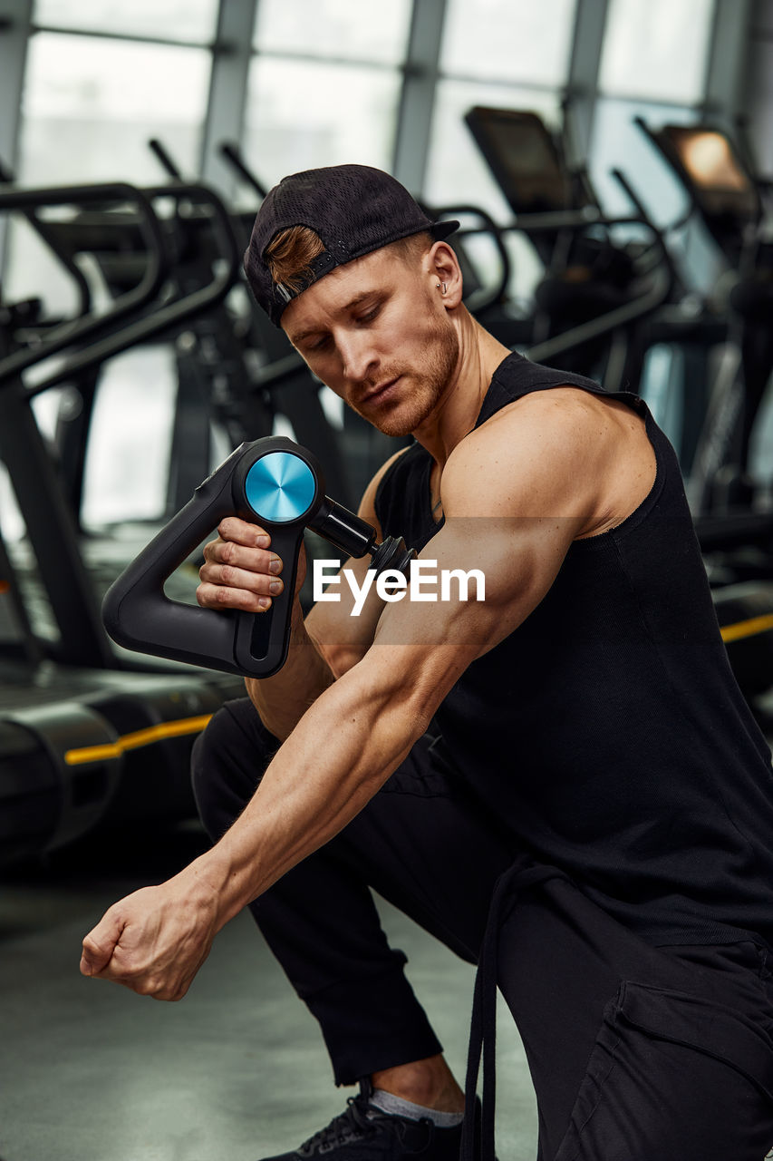
<svg viewBox="0 0 773 1161">
<path fill-rule="evenodd" d="M 284 587 L 266 613 L 214 612 L 171 600 L 164 592 L 167 577 L 224 517 L 236 512 L 255 522 L 254 512 L 241 509 L 238 496 L 234 500 L 232 481 L 241 461 L 257 459 L 255 449 L 267 442 L 255 440 L 238 447 L 108 590 L 102 616 L 120 646 L 247 677 L 269 677 L 281 669 L 289 642 L 302 525 L 268 528 L 272 548 L 284 564 Z M 261 637 L 257 654 L 255 635 Z"/>
</svg>

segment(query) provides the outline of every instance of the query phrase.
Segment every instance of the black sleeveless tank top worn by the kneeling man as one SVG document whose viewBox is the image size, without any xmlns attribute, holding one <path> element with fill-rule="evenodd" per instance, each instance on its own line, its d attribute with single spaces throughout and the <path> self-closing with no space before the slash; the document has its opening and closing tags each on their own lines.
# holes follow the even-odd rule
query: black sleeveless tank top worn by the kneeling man
<svg viewBox="0 0 773 1161">
<path fill-rule="evenodd" d="M 532 391 L 597 383 L 513 354 L 476 426 Z M 728 663 L 679 464 L 645 404 L 646 499 L 575 541 L 547 596 L 472 662 L 436 713 L 445 750 L 514 846 L 570 874 L 656 944 L 773 945 L 771 753 Z M 429 454 L 384 475 L 385 535 L 424 548 Z M 431 555 L 431 551 L 428 553 Z"/>
</svg>

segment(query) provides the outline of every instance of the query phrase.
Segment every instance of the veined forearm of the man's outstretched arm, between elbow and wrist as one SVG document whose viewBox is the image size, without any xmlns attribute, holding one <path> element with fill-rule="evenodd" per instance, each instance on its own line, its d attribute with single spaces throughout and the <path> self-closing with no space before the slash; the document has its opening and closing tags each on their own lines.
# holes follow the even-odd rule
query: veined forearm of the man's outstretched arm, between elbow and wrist
<svg viewBox="0 0 773 1161">
<path fill-rule="evenodd" d="M 203 857 L 218 928 L 346 827 L 406 757 L 431 712 L 391 683 L 363 688 L 355 670 L 313 704 L 241 816 Z"/>
</svg>

